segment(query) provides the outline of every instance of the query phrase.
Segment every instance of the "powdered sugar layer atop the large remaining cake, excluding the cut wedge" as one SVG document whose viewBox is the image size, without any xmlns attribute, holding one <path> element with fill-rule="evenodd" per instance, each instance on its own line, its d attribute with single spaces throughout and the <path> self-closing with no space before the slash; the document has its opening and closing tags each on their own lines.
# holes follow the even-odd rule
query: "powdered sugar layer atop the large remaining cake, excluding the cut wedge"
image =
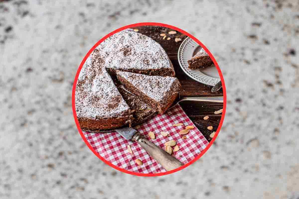
<svg viewBox="0 0 299 199">
<path fill-rule="evenodd" d="M 121 117 L 129 110 L 106 68 L 173 70 L 167 53 L 152 38 L 132 29 L 110 36 L 97 46 L 80 71 L 75 94 L 78 118 Z"/>
</svg>

